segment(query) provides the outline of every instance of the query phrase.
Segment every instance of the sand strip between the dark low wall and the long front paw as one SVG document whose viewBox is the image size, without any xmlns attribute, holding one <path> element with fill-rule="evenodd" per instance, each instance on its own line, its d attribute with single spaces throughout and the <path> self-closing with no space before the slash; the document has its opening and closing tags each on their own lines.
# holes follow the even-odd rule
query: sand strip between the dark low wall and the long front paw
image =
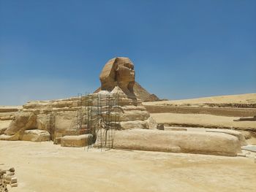
<svg viewBox="0 0 256 192">
<path fill-rule="evenodd" d="M 241 128 L 252 129 L 256 131 L 256 121 L 233 121 L 238 119 L 237 117 L 226 117 L 219 115 L 207 115 L 207 114 L 181 114 L 181 113 L 151 113 L 151 117 L 157 121 L 157 123 L 169 123 L 169 124 L 187 124 L 195 126 L 218 126 L 227 128 Z"/>
</svg>

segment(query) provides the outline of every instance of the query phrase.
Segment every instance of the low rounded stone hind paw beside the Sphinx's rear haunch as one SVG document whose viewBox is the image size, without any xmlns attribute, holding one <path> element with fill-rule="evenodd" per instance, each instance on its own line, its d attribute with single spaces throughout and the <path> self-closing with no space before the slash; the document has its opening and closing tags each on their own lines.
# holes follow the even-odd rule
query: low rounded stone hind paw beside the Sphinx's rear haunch
<svg viewBox="0 0 256 192">
<path fill-rule="evenodd" d="M 43 131 L 39 129 L 26 130 L 20 140 L 31 141 L 31 142 L 46 142 L 50 141 L 50 134 L 48 131 Z"/>
</svg>

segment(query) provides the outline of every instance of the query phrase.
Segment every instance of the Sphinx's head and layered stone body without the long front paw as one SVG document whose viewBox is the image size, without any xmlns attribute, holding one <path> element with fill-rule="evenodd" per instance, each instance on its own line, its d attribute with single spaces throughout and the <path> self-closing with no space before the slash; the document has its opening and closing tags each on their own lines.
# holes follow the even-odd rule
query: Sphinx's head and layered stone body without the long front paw
<svg viewBox="0 0 256 192">
<path fill-rule="evenodd" d="M 0 139 L 41 142 L 80 134 L 96 137 L 95 131 L 102 126 L 99 121 L 108 124 L 105 129 L 113 124 L 118 124 L 114 126 L 118 130 L 157 126 L 134 93 L 135 69 L 129 58 L 110 59 L 99 79 L 101 87 L 97 93 L 24 104 L 13 114 L 10 125 L 1 129 L 4 134 Z M 74 137 L 65 137 L 62 145 L 69 143 L 68 139 Z"/>
</svg>

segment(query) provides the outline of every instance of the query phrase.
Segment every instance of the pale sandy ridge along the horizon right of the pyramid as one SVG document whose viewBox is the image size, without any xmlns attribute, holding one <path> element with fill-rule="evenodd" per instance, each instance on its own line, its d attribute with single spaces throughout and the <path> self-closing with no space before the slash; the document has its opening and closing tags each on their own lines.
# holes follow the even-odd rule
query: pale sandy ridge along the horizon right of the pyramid
<svg viewBox="0 0 256 192">
<path fill-rule="evenodd" d="M 230 95 L 230 96 L 211 96 L 202 97 L 197 99 L 183 99 L 183 100 L 170 100 L 170 101 L 154 101 L 144 102 L 145 105 L 166 105 L 166 104 L 205 104 L 205 103 L 242 103 L 242 104 L 255 104 L 256 93 L 247 93 L 241 95 Z"/>
</svg>

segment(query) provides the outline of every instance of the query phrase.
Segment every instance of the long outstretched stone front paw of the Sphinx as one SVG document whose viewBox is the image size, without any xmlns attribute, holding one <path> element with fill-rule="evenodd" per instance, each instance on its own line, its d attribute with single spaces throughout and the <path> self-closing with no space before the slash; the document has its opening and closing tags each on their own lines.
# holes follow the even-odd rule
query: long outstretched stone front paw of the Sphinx
<svg viewBox="0 0 256 192">
<path fill-rule="evenodd" d="M 199 131 L 133 129 L 116 131 L 113 147 L 129 150 L 199 153 L 236 156 L 241 153 L 237 137 Z M 180 150 L 177 150 L 180 147 Z"/>
</svg>

